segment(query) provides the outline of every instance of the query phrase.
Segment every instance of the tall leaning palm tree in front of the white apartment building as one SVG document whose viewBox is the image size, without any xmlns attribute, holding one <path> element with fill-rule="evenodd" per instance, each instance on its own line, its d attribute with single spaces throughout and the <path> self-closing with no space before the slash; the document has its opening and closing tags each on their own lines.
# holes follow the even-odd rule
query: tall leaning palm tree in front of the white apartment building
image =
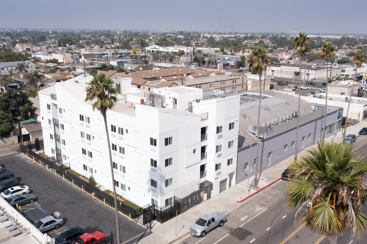
<svg viewBox="0 0 367 244">
<path fill-rule="evenodd" d="M 118 92 L 114 85 L 114 82 L 111 79 L 106 78 L 105 74 L 93 75 L 93 79 L 91 80 L 91 82 L 88 82 L 87 85 L 88 85 L 86 88 L 87 96 L 86 96 L 85 101 L 86 102 L 94 101 L 92 105 L 93 111 L 97 109 L 99 112 L 101 112 L 103 116 L 103 120 L 105 122 L 105 131 L 106 131 L 107 144 L 108 144 L 108 154 L 110 157 L 113 198 L 115 200 L 117 243 L 121 243 L 119 210 L 117 209 L 117 198 L 116 198 L 115 176 L 113 174 L 111 145 L 110 145 L 110 138 L 108 135 L 108 126 L 107 126 L 107 110 L 115 106 L 116 95 Z"/>
</svg>

